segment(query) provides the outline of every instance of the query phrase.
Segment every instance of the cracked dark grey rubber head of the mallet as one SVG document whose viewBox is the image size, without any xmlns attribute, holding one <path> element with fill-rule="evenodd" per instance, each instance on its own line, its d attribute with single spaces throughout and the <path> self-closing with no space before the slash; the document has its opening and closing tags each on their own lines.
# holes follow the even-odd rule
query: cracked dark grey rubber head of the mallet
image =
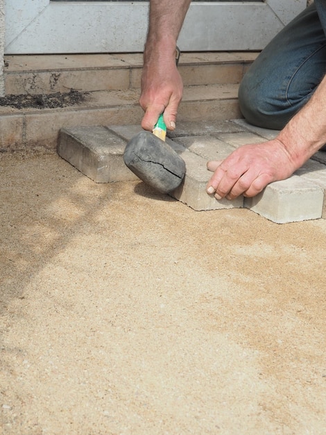
<svg viewBox="0 0 326 435">
<path fill-rule="evenodd" d="M 185 177 L 182 158 L 149 131 L 141 131 L 128 142 L 123 161 L 139 179 L 162 193 L 178 188 Z"/>
</svg>

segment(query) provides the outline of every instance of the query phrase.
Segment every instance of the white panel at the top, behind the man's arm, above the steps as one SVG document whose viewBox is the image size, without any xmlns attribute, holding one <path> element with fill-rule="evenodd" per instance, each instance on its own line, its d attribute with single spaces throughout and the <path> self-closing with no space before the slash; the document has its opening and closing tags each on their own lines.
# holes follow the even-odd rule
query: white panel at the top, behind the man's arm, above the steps
<svg viewBox="0 0 326 435">
<path fill-rule="evenodd" d="M 182 51 L 259 50 L 305 6 L 306 0 L 194 1 L 178 44 Z M 144 1 L 7 0 L 5 52 L 142 51 L 147 22 Z"/>
</svg>

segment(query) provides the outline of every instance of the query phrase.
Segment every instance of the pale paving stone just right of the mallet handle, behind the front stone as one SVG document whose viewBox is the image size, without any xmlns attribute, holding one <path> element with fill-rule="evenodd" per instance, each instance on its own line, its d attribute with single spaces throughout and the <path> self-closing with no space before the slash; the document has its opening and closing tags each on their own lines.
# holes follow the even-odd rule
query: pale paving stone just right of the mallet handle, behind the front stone
<svg viewBox="0 0 326 435">
<path fill-rule="evenodd" d="M 189 151 L 209 160 L 221 161 L 230 156 L 234 147 L 213 136 L 184 136 L 177 138 Z"/>
</svg>

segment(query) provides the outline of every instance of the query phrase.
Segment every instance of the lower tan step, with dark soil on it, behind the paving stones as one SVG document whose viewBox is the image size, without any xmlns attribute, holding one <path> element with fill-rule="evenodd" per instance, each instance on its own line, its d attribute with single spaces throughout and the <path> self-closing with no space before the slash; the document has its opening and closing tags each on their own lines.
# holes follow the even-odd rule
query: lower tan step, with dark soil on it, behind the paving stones
<svg viewBox="0 0 326 435">
<path fill-rule="evenodd" d="M 186 86 L 178 121 L 213 121 L 241 117 L 237 84 Z M 0 107 L 0 151 L 55 150 L 60 129 L 71 126 L 140 124 L 139 89 L 89 92 L 82 101 L 64 108 Z"/>
</svg>

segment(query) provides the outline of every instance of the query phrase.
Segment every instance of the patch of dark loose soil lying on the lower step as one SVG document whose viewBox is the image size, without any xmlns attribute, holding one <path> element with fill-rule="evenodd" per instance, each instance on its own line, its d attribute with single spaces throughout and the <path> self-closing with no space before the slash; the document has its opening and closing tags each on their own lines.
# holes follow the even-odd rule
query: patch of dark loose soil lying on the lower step
<svg viewBox="0 0 326 435">
<path fill-rule="evenodd" d="M 88 92 L 79 92 L 72 89 L 70 92 L 55 92 L 55 94 L 37 95 L 6 95 L 0 97 L 0 106 L 10 106 L 17 109 L 22 108 L 60 108 L 74 106 L 85 101 Z"/>
</svg>

